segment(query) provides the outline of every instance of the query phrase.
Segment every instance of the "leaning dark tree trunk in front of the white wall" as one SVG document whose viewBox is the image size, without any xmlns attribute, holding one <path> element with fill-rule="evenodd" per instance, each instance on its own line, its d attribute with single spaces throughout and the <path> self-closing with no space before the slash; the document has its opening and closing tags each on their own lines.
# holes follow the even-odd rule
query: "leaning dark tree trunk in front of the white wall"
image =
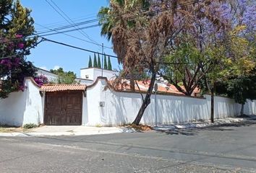
<svg viewBox="0 0 256 173">
<path fill-rule="evenodd" d="M 150 86 L 148 87 L 148 92 L 145 96 L 145 99 L 142 102 L 142 105 L 140 107 L 139 112 L 137 113 L 137 117 L 132 122 L 132 124 L 135 124 L 135 125 L 140 124 L 140 120 L 141 120 L 141 118 L 142 118 L 142 116 L 145 112 L 145 109 L 148 107 L 148 105 L 150 105 L 150 96 L 152 94 L 153 87 L 154 87 L 154 84 L 155 84 L 155 76 L 156 76 L 156 73 L 155 73 L 155 71 L 153 71 L 152 76 L 151 76 L 151 80 L 150 80 Z"/>
</svg>

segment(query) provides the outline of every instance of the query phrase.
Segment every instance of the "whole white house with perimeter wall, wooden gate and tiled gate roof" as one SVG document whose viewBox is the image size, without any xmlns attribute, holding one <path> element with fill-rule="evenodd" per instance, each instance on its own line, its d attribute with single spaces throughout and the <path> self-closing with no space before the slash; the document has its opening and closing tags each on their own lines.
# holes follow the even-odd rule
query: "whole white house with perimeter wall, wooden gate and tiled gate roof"
<svg viewBox="0 0 256 173">
<path fill-rule="evenodd" d="M 142 104 L 140 92 L 116 89 L 109 81 L 111 75 L 116 74 L 105 71 L 108 76 L 103 77 L 100 72 L 98 68 L 81 69 L 81 77 L 89 75 L 85 80 L 91 80 L 90 84 L 40 87 L 32 78 L 26 78 L 24 92 L 13 92 L 7 99 L 0 99 L 0 124 L 95 126 L 132 123 Z M 141 123 L 155 123 L 155 106 L 158 124 L 210 119 L 210 96 L 187 97 L 161 85 L 158 89 L 156 99 L 154 95 L 151 97 Z M 236 104 L 234 99 L 215 97 L 214 104 L 216 118 L 239 115 L 241 105 Z M 247 101 L 244 113 L 255 115 L 256 101 Z"/>
</svg>

